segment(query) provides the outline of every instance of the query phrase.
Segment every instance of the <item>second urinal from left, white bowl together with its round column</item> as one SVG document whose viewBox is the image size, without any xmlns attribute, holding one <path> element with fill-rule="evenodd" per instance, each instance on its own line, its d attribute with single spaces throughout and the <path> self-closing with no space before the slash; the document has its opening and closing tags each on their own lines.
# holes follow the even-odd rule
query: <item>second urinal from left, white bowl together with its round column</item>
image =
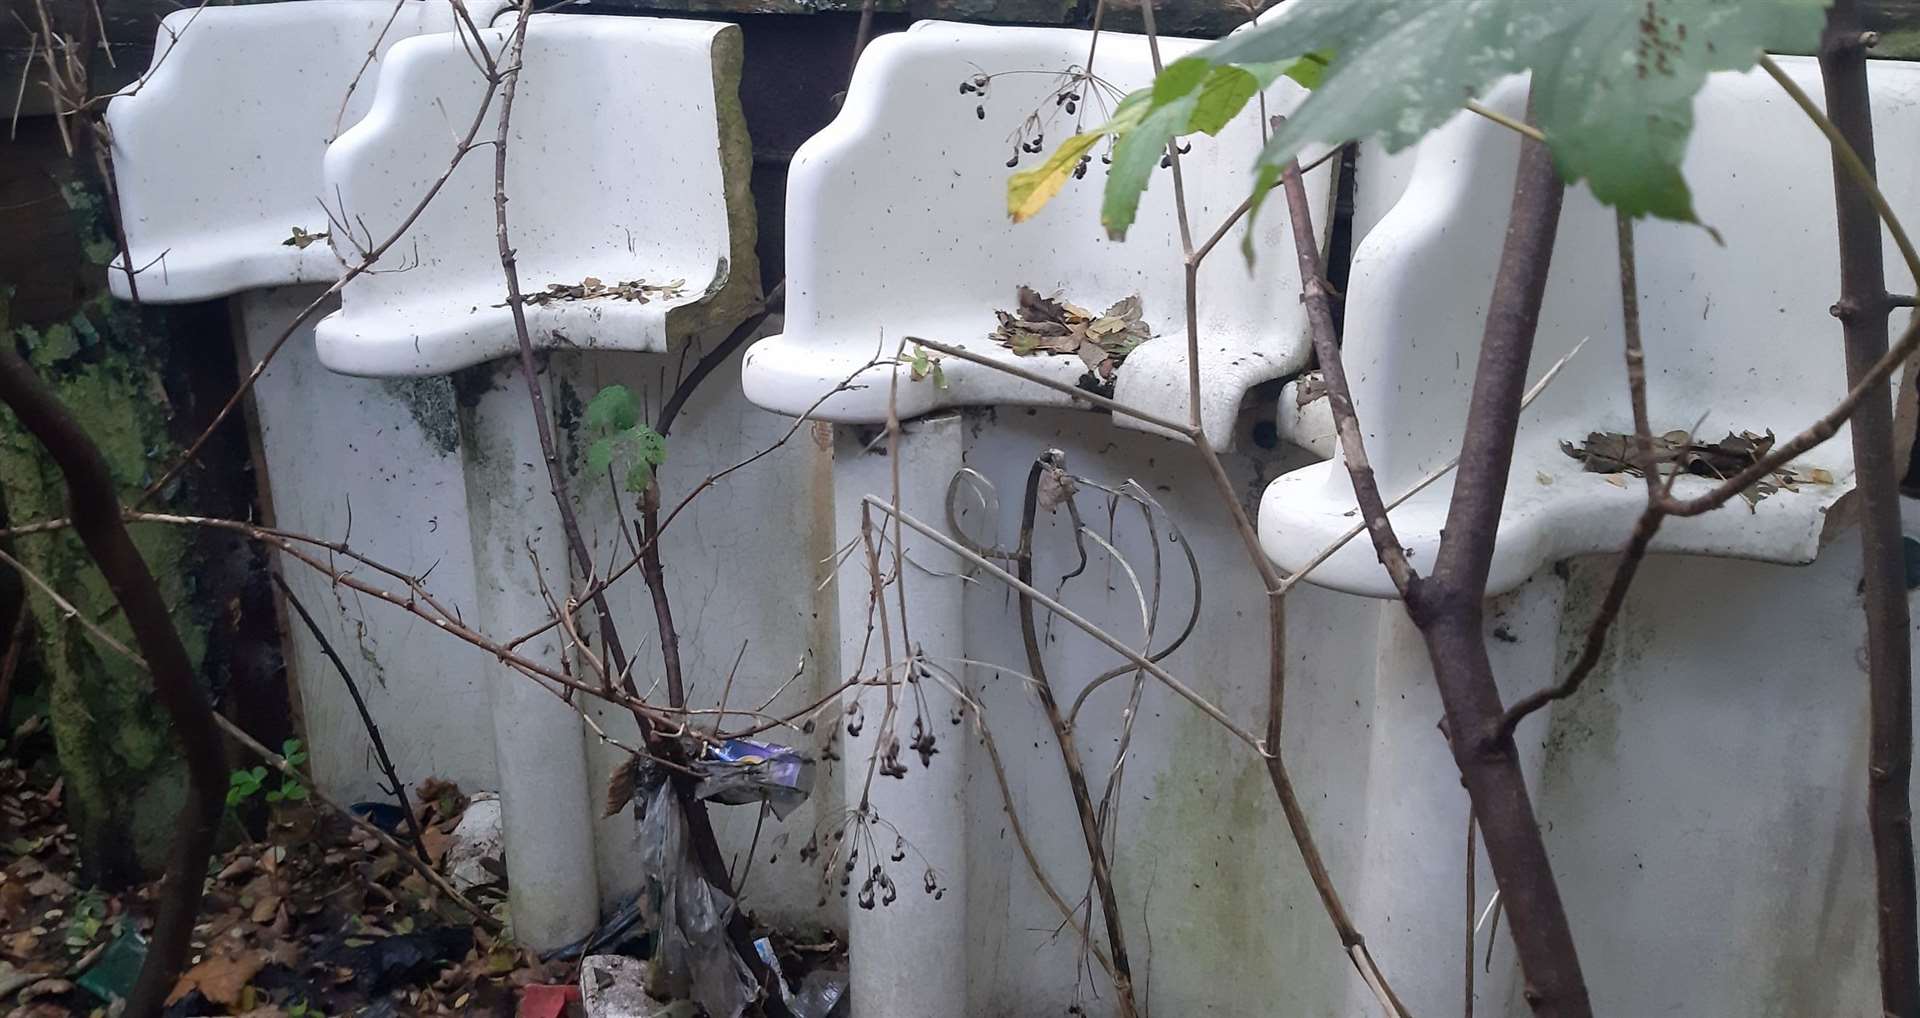
<svg viewBox="0 0 1920 1018">
<path fill-rule="evenodd" d="M 507 60 L 511 31 L 503 21 L 468 44 Z M 733 25 L 528 21 L 505 192 L 540 350 L 666 351 L 745 315 L 758 271 L 739 60 Z M 495 150 L 467 152 L 447 175 L 468 111 L 488 88 L 480 61 L 440 36 L 401 42 L 382 61 L 372 108 L 326 152 L 334 217 L 351 225 L 330 238 L 334 250 L 357 257 L 415 217 L 444 175 L 445 182 L 394 248 L 394 265 L 351 279 L 340 311 L 315 336 L 319 359 L 348 375 L 405 380 L 472 369 L 459 417 L 476 599 L 486 632 L 518 634 L 547 622 L 584 570 L 563 540 L 516 357 L 497 244 Z M 482 142 L 497 136 L 501 109 L 495 96 Z M 572 390 L 566 373 L 576 369 L 591 373 L 576 359 L 541 369 L 536 382 L 549 413 Z M 553 670 L 572 653 L 553 632 L 520 651 Z M 599 920 L 599 795 L 589 788 L 582 720 L 541 680 L 505 663 L 486 674 L 515 933 L 555 947 Z"/>
</svg>

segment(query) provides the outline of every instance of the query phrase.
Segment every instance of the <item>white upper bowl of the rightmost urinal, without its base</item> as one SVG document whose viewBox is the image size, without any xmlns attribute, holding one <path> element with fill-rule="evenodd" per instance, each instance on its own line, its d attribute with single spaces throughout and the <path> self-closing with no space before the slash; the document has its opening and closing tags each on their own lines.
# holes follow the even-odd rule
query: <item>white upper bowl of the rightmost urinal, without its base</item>
<svg viewBox="0 0 1920 1018">
<path fill-rule="evenodd" d="M 1809 58 L 1780 63 L 1812 94 Z M 1872 63 L 1880 161 L 1899 165 L 1920 129 L 1920 67 Z M 1490 102 L 1519 113 L 1524 83 L 1507 81 Z M 1642 330 L 1653 430 L 1692 428 L 1703 440 L 1728 430 L 1772 430 L 1782 440 L 1826 413 L 1845 392 L 1828 148 L 1816 129 L 1759 71 L 1715 75 L 1695 104 L 1686 175 L 1705 223 L 1724 236 L 1674 223 L 1640 223 Z M 1390 499 L 1459 451 L 1486 300 L 1500 259 L 1513 188 L 1517 136 L 1461 115 L 1428 136 L 1404 198 L 1361 242 L 1348 284 L 1346 365 L 1367 428 L 1367 453 Z M 1920 179 L 1891 173 L 1893 207 L 1920 213 Z M 1524 415 L 1515 448 L 1492 592 L 1513 590 L 1542 565 L 1617 549 L 1645 501 L 1638 478 L 1584 473 L 1559 444 L 1588 432 L 1632 432 L 1620 359 L 1620 298 L 1613 213 L 1584 186 L 1567 194 L 1553 273 L 1534 344 L 1532 376 L 1582 336 L 1588 348 Z M 1912 280 L 1887 242 L 1887 286 Z M 1895 330 L 1907 315 L 1895 315 Z M 1705 415 L 1705 419 L 1703 419 Z M 1799 467 L 1834 484 L 1743 499 L 1695 519 L 1668 521 L 1659 551 L 1809 563 L 1828 511 L 1853 488 L 1847 432 Z M 1617 484 L 1624 482 L 1624 484 Z M 1682 478 L 1676 496 L 1707 488 Z M 1452 476 L 1392 513 L 1413 565 L 1430 569 Z M 1261 501 L 1260 534 L 1288 569 L 1308 563 L 1356 522 L 1342 459 L 1275 480 Z M 1359 538 L 1321 565 L 1313 582 L 1375 597 L 1392 584 Z"/>
</svg>

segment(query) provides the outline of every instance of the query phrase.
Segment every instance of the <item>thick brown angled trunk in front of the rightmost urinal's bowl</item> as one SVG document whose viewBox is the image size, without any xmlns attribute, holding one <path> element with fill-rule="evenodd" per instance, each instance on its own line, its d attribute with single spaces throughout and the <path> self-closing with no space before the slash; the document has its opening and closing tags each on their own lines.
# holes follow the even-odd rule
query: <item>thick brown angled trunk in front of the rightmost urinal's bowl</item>
<svg viewBox="0 0 1920 1018">
<path fill-rule="evenodd" d="M 1500 738 L 1503 709 L 1482 632 L 1486 578 L 1563 198 L 1565 184 L 1546 146 L 1521 142 L 1513 211 L 1488 298 L 1453 499 L 1434 570 L 1411 584 L 1405 603 L 1427 638 L 1453 763 L 1473 797 L 1486 857 L 1507 903 L 1526 1003 L 1536 1014 L 1588 1018 L 1594 1006 L 1519 753 L 1511 738 Z"/>
</svg>

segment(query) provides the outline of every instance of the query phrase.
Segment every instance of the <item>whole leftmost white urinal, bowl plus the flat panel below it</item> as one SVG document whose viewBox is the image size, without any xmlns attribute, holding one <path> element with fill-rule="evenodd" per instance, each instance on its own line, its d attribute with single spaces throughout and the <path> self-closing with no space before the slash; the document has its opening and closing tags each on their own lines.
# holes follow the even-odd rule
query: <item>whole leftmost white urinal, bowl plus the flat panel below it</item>
<svg viewBox="0 0 1920 1018">
<path fill-rule="evenodd" d="M 484 21 L 499 6 L 482 0 L 468 12 Z M 108 106 L 138 300 L 232 296 L 242 373 L 267 357 L 296 315 L 340 279 L 319 236 L 326 232 L 326 142 L 371 106 L 380 60 L 394 44 L 453 23 L 444 0 L 309 0 L 167 15 L 154 65 Z M 434 38 L 459 52 L 451 35 Z M 296 229 L 313 240 L 292 242 Z M 125 271 L 108 277 L 117 296 L 134 296 Z M 278 344 L 252 407 L 269 522 L 351 540 L 399 569 L 432 569 L 436 592 L 472 605 L 459 428 L 444 382 L 392 386 L 332 375 L 313 357 L 309 325 Z M 315 426 L 323 419 L 328 426 Z M 492 788 L 492 743 L 459 736 L 488 722 L 484 697 L 474 695 L 484 657 L 305 567 L 286 569 L 286 578 L 357 668 L 399 772 Z M 348 801 L 380 797 L 351 697 L 305 628 L 296 624 L 290 642 L 315 778 Z"/>
</svg>

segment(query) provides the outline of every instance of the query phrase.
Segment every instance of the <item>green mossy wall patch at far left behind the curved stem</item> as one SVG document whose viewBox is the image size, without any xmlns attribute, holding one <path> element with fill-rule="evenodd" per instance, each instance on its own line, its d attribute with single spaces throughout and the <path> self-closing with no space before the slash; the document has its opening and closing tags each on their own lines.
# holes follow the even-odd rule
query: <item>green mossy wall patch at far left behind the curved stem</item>
<svg viewBox="0 0 1920 1018">
<path fill-rule="evenodd" d="M 102 246 L 98 192 L 77 181 L 61 186 L 86 261 L 111 254 Z M 136 496 L 159 465 L 179 453 L 169 436 L 173 407 L 161 386 L 163 330 L 90 286 L 92 296 L 61 321 L 15 325 L 0 290 L 0 332 L 65 401 L 104 453 L 123 497 Z M 165 315 L 154 315 L 161 319 Z M 0 488 L 12 522 L 67 515 L 65 482 L 40 444 L 0 409 Z M 134 526 L 196 668 L 205 661 L 215 605 L 196 599 L 194 534 L 177 526 Z M 90 622 L 131 643 L 113 594 L 71 532 L 27 536 L 13 553 L 67 597 Z M 48 720 L 65 776 L 69 820 L 88 874 L 121 885 L 165 864 L 165 849 L 184 797 L 184 766 L 152 682 L 100 645 L 50 597 L 27 599 L 36 634 L 38 674 L 27 676 L 48 703 Z"/>
</svg>

